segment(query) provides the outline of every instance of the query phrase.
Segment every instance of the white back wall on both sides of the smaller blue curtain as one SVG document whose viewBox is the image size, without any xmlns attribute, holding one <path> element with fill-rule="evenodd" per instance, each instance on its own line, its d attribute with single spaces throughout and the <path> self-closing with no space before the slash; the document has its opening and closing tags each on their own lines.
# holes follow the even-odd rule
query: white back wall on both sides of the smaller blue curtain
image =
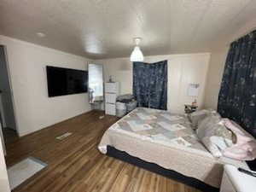
<svg viewBox="0 0 256 192">
<path fill-rule="evenodd" d="M 204 101 L 210 54 L 155 55 L 145 58 L 145 62 L 163 60 L 168 60 L 168 110 L 183 113 L 184 104 L 193 102 L 195 98 L 201 108 Z M 129 58 L 97 60 L 95 62 L 103 64 L 105 81 L 108 80 L 109 75 L 112 75 L 113 80 L 120 82 L 121 94 L 132 93 L 132 63 Z M 199 96 L 188 96 L 189 84 L 197 83 L 200 84 Z"/>
</svg>

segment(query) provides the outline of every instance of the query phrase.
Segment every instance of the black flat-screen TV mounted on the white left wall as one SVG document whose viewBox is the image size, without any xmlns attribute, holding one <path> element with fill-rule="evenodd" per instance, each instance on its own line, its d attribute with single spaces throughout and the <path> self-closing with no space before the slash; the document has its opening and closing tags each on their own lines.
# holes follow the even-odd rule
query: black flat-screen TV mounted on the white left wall
<svg viewBox="0 0 256 192">
<path fill-rule="evenodd" d="M 47 66 L 46 72 L 49 97 L 87 92 L 87 71 Z"/>
</svg>

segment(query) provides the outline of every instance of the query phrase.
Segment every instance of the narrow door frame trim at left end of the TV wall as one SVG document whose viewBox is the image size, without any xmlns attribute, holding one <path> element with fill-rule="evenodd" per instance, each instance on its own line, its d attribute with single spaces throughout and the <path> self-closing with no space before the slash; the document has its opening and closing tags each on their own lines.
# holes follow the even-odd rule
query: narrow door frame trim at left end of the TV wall
<svg viewBox="0 0 256 192">
<path fill-rule="evenodd" d="M 8 76 L 8 82 L 9 82 L 9 89 L 10 89 L 10 96 L 11 96 L 11 101 L 14 109 L 14 119 L 15 119 L 15 131 L 17 132 L 18 137 L 20 137 L 20 129 L 17 121 L 17 113 L 16 113 L 16 106 L 15 106 L 15 96 L 14 96 L 14 90 L 12 86 L 12 79 L 11 79 L 11 73 L 9 69 L 9 57 L 8 57 L 8 52 L 7 52 L 7 47 L 4 44 L 0 44 L 0 46 L 3 46 L 3 52 L 4 52 L 4 57 L 6 61 L 6 68 L 7 68 L 7 76 Z"/>
</svg>

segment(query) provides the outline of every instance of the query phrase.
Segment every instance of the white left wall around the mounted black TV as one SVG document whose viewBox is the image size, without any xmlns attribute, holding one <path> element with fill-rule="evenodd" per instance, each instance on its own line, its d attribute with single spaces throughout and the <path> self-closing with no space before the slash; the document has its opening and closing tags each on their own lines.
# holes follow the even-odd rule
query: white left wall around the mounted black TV
<svg viewBox="0 0 256 192">
<path fill-rule="evenodd" d="M 88 94 L 48 97 L 46 65 L 85 70 L 88 60 L 14 38 L 0 36 L 7 48 L 20 136 L 90 110 Z"/>
</svg>

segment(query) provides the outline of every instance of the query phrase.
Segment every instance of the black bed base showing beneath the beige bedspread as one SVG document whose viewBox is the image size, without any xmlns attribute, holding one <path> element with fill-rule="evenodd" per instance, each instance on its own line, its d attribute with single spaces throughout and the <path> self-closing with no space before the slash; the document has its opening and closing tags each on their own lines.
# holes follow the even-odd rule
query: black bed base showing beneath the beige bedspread
<svg viewBox="0 0 256 192">
<path fill-rule="evenodd" d="M 110 157 L 119 159 L 119 160 L 123 160 L 127 163 L 134 165 L 134 166 L 139 166 L 139 167 L 141 167 L 145 170 L 148 170 L 150 172 L 155 172 L 164 177 L 168 177 L 173 180 L 177 180 L 178 182 L 187 184 L 191 187 L 194 187 L 195 189 L 200 189 L 201 191 L 206 191 L 206 192 L 218 192 L 219 191 L 218 188 L 212 187 L 211 185 L 209 185 L 207 183 L 203 183 L 194 177 L 187 177 L 181 173 L 158 166 L 157 164 L 149 163 L 145 160 L 141 160 L 137 157 L 131 156 L 130 154 L 125 153 L 124 151 L 119 151 L 118 149 L 113 148 L 111 146 L 108 146 L 107 155 Z"/>
</svg>

